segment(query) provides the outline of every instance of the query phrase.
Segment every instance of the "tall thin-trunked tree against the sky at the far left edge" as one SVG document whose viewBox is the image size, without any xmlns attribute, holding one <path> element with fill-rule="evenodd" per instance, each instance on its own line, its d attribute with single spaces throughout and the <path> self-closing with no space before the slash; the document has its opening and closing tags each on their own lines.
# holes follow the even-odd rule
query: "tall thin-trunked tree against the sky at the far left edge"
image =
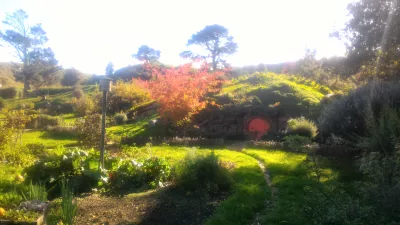
<svg viewBox="0 0 400 225">
<path fill-rule="evenodd" d="M 32 55 L 34 55 L 32 52 L 43 48 L 48 41 L 41 24 L 30 26 L 27 19 L 28 15 L 21 9 L 7 14 L 3 23 L 8 26 L 8 29 L 0 32 L 0 38 L 14 48 L 17 56 L 24 63 L 24 91 L 30 89 L 29 80 L 32 78 L 32 73 L 27 70 L 32 64 Z"/>
</svg>

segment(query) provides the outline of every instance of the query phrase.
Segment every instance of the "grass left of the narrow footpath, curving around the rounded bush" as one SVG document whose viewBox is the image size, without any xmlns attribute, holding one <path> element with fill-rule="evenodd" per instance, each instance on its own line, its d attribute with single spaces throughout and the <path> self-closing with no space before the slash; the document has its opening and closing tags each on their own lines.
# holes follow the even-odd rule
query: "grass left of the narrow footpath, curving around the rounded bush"
<svg viewBox="0 0 400 225">
<path fill-rule="evenodd" d="M 151 148 L 131 148 L 129 156 L 144 158 L 149 155 L 164 157 L 173 167 L 182 160 L 188 152 L 188 147 L 155 146 Z M 200 149 L 200 153 L 209 153 L 210 149 Z M 263 173 L 253 157 L 240 152 L 224 149 L 214 149 L 223 162 L 234 165 L 231 173 L 234 188 L 231 195 L 216 209 L 206 222 L 213 224 L 248 224 L 264 207 L 264 202 L 270 196 L 270 190 L 264 180 Z"/>
</svg>

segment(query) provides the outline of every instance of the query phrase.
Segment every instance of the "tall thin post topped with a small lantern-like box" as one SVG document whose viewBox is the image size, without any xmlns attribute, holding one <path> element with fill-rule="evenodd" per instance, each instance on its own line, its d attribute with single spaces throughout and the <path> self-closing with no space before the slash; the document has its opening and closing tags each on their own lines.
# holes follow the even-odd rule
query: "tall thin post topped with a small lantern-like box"
<svg viewBox="0 0 400 225">
<path fill-rule="evenodd" d="M 100 80 L 100 91 L 103 92 L 102 101 L 102 117 L 101 117 L 101 139 L 100 139 L 100 163 L 101 168 L 104 168 L 104 147 L 106 139 L 106 106 L 107 106 L 107 92 L 111 91 L 112 79 L 104 77 Z"/>
</svg>

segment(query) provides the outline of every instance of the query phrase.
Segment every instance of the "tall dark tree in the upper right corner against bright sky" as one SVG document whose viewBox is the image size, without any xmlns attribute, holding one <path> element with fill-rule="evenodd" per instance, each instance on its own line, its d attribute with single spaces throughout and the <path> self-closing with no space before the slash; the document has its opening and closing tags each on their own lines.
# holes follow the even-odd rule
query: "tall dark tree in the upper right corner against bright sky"
<svg viewBox="0 0 400 225">
<path fill-rule="evenodd" d="M 347 52 L 351 65 L 385 65 L 400 54 L 399 0 L 360 0 L 348 5 L 350 20 L 346 27 L 334 33 L 348 41 Z M 389 54 L 389 56 L 388 56 Z M 381 61 L 376 61 L 378 56 Z M 394 62 L 393 62 L 394 63 Z M 390 67 L 390 66 L 389 66 Z M 394 71 L 383 69 L 384 73 Z M 377 71 L 374 71 L 376 73 Z M 394 73 L 399 74 L 399 71 Z"/>
</svg>

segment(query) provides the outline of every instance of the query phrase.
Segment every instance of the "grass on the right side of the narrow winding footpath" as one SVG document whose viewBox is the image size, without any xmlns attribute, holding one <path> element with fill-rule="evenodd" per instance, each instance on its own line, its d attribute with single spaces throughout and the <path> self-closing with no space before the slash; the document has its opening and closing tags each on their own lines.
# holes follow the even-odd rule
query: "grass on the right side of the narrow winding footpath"
<svg viewBox="0 0 400 225">
<path fill-rule="evenodd" d="M 307 205 L 305 187 L 318 188 L 337 178 L 337 173 L 331 169 L 321 169 L 321 183 L 318 183 L 312 178 L 312 171 L 307 169 L 305 154 L 279 150 L 244 152 L 265 163 L 272 185 L 278 190 L 274 207 L 268 207 L 262 213 L 262 224 L 308 224 L 303 211 Z"/>
</svg>

